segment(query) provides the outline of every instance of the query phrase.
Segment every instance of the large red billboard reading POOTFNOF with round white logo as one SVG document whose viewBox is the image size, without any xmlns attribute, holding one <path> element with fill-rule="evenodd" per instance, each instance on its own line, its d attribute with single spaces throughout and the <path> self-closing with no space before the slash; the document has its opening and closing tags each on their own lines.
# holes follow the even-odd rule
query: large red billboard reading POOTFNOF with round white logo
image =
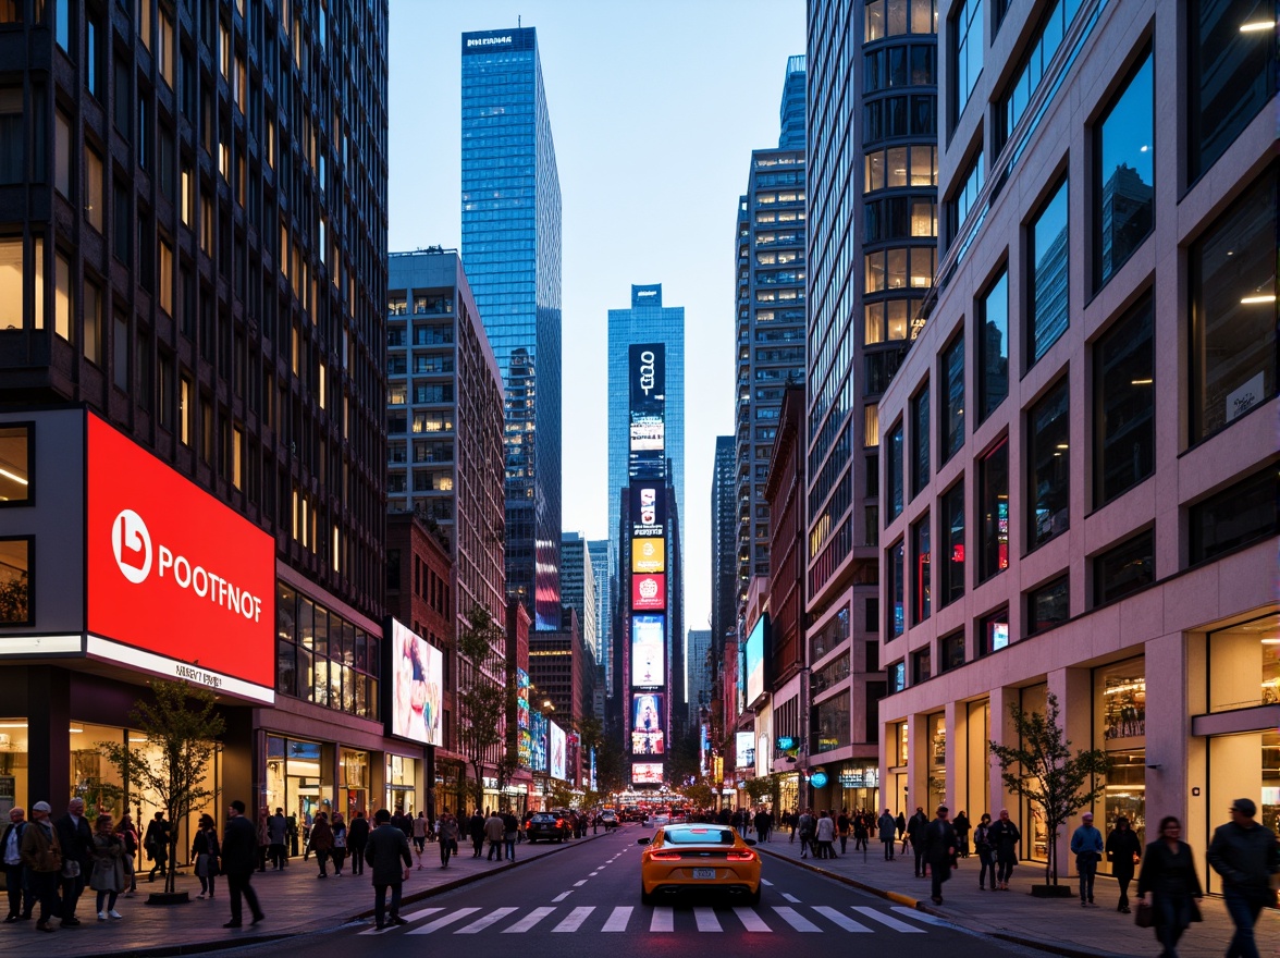
<svg viewBox="0 0 1280 958">
<path fill-rule="evenodd" d="M 275 539 L 93 415 L 88 653 L 275 701 Z"/>
</svg>

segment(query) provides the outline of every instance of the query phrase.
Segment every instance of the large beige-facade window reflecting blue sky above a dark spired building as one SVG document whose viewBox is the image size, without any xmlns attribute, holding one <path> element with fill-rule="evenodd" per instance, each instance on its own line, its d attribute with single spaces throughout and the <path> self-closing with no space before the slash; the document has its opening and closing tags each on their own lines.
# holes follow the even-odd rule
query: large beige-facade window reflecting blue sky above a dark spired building
<svg viewBox="0 0 1280 958">
<path fill-rule="evenodd" d="M 1096 286 L 1115 275 L 1155 224 L 1155 68 L 1148 53 L 1094 136 Z"/>
</svg>

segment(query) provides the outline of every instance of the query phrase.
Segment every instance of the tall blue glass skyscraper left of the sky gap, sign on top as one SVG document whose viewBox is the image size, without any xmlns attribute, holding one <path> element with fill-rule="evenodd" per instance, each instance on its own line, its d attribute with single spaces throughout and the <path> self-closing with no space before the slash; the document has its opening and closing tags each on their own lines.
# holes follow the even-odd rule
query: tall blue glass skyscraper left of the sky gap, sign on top
<svg viewBox="0 0 1280 958">
<path fill-rule="evenodd" d="M 462 35 L 462 260 L 507 389 L 507 590 L 559 629 L 561 192 L 532 27 Z"/>
</svg>

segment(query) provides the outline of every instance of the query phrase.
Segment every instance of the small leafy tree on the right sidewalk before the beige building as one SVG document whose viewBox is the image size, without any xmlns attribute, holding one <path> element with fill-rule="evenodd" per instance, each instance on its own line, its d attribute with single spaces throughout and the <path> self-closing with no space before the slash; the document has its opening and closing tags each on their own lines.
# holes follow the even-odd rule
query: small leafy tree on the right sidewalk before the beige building
<svg viewBox="0 0 1280 958">
<path fill-rule="evenodd" d="M 1018 731 L 1018 745 L 1001 745 L 992 740 L 991 753 L 1000 762 L 1005 788 L 1039 806 L 1044 816 L 1048 832 L 1044 888 L 1056 889 L 1059 829 L 1103 794 L 1106 788 L 1101 779 L 1107 774 L 1107 756 L 1097 748 L 1076 749 L 1071 754 L 1071 743 L 1060 721 L 1057 695 L 1052 692 L 1048 694 L 1048 715 L 1024 711 L 1016 702 L 1010 704 L 1009 715 Z"/>
</svg>

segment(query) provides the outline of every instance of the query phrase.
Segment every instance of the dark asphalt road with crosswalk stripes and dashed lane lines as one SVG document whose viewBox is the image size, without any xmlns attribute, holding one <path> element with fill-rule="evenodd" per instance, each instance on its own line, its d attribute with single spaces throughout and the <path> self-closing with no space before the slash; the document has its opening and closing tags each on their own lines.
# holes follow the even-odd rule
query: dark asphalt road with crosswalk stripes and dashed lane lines
<svg viewBox="0 0 1280 958">
<path fill-rule="evenodd" d="M 652 834 L 627 826 L 406 905 L 404 926 L 379 931 L 371 922 L 361 922 L 244 950 L 269 948 L 273 958 L 403 958 L 406 949 L 433 945 L 465 949 L 467 958 L 509 958 L 516 949 L 545 954 L 549 948 L 557 958 L 596 958 L 602 949 L 608 949 L 609 958 L 704 958 L 708 948 L 763 955 L 800 945 L 837 953 L 858 948 L 863 954 L 901 953 L 904 948 L 942 948 L 942 954 L 973 958 L 993 958 L 993 952 L 1039 954 L 771 858 L 764 861 L 767 884 L 754 908 L 714 898 L 641 905 L 636 839 Z"/>
</svg>

